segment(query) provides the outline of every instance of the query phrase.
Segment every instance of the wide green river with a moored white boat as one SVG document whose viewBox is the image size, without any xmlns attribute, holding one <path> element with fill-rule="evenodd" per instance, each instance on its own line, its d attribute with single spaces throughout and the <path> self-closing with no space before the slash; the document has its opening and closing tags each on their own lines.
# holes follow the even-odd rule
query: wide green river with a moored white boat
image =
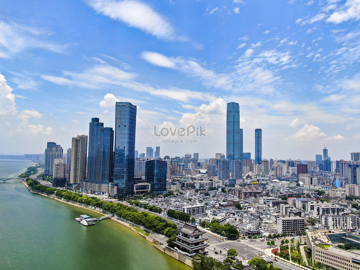
<svg viewBox="0 0 360 270">
<path fill-rule="evenodd" d="M 30 165 L 1 163 L 0 178 Z M 0 181 L 0 269 L 192 269 L 116 221 L 83 226 L 75 221 L 81 214 L 101 216 Z"/>
</svg>

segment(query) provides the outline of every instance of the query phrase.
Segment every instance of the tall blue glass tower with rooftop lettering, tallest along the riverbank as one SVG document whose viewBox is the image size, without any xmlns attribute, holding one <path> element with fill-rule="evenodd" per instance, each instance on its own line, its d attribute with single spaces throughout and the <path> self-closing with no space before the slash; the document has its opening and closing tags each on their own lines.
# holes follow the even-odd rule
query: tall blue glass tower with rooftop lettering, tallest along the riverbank
<svg viewBox="0 0 360 270">
<path fill-rule="evenodd" d="M 134 183 L 136 106 L 116 102 L 115 123 L 114 184 L 118 184 L 119 195 L 124 196 L 132 192 Z"/>
</svg>

